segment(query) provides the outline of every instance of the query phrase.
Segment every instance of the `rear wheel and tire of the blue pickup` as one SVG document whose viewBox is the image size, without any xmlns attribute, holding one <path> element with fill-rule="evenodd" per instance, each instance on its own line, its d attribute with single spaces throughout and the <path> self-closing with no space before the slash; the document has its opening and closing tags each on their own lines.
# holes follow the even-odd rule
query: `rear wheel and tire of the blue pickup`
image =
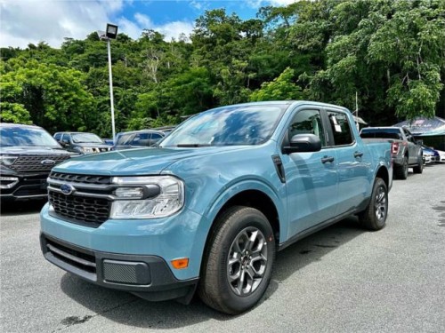
<svg viewBox="0 0 445 333">
<path fill-rule="evenodd" d="M 376 178 L 366 210 L 359 214 L 359 221 L 368 230 L 383 229 L 388 216 L 388 187 L 382 178 Z"/>
</svg>

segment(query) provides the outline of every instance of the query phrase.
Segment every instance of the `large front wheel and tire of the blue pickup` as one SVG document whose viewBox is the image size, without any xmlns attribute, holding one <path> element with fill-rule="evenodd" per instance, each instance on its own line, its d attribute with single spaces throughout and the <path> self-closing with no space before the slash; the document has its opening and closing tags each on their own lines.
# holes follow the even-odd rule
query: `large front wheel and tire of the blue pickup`
<svg viewBox="0 0 445 333">
<path fill-rule="evenodd" d="M 271 281 L 275 238 L 263 213 L 234 206 L 217 219 L 206 246 L 198 295 L 222 313 L 243 313 Z"/>
</svg>

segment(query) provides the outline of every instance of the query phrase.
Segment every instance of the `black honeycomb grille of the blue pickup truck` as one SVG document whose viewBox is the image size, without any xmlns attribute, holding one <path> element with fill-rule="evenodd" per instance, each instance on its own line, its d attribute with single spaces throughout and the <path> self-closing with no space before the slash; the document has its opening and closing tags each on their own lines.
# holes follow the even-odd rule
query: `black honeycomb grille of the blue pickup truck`
<svg viewBox="0 0 445 333">
<path fill-rule="evenodd" d="M 109 218 L 111 178 L 51 172 L 48 178 L 48 198 L 54 212 L 69 222 L 98 227 Z M 61 186 L 72 184 L 73 194 L 63 194 Z"/>
</svg>

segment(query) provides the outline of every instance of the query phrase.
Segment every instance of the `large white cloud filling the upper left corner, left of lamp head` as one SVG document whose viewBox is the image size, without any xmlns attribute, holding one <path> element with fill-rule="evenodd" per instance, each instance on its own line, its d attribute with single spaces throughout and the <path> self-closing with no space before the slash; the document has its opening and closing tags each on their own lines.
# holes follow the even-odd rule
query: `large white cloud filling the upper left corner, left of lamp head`
<svg viewBox="0 0 445 333">
<path fill-rule="evenodd" d="M 123 0 L 0 0 L 0 46 L 25 48 L 46 42 L 60 47 L 64 37 L 85 39 L 105 29 L 109 15 L 123 5 Z"/>
</svg>

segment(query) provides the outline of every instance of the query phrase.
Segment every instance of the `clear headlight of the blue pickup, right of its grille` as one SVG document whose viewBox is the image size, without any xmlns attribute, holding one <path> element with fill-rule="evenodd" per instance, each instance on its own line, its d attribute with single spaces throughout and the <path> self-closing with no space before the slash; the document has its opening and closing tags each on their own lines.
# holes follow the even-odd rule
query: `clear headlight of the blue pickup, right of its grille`
<svg viewBox="0 0 445 333">
<path fill-rule="evenodd" d="M 184 205 L 184 183 L 172 176 L 114 177 L 109 218 L 165 218 Z"/>
</svg>

